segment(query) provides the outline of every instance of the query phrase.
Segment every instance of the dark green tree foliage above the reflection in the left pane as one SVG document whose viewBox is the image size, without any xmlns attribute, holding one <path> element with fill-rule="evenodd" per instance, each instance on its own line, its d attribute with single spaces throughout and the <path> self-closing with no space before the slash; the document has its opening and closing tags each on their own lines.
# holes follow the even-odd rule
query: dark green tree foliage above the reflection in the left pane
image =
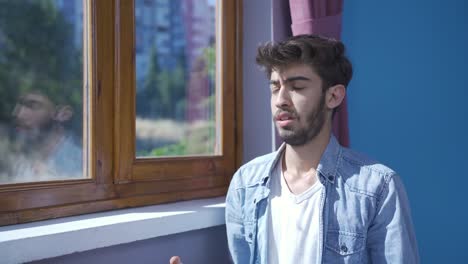
<svg viewBox="0 0 468 264">
<path fill-rule="evenodd" d="M 0 121 L 9 122 L 20 94 L 36 91 L 71 105 L 81 126 L 82 52 L 73 33 L 51 0 L 0 1 Z"/>
</svg>

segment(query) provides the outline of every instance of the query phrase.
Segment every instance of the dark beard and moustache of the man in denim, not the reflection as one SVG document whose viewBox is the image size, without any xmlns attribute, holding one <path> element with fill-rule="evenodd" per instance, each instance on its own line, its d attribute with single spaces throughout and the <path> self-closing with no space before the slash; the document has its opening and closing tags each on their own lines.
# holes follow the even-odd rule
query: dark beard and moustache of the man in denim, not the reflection
<svg viewBox="0 0 468 264">
<path fill-rule="evenodd" d="M 280 109 L 275 116 L 280 112 L 288 112 L 299 121 L 299 115 L 294 110 Z M 307 142 L 313 140 L 322 131 L 325 124 L 325 93 L 321 96 L 318 106 L 306 115 L 306 126 L 294 129 L 293 127 L 280 128 L 278 125 L 276 129 L 280 138 L 288 145 L 302 146 Z"/>
</svg>

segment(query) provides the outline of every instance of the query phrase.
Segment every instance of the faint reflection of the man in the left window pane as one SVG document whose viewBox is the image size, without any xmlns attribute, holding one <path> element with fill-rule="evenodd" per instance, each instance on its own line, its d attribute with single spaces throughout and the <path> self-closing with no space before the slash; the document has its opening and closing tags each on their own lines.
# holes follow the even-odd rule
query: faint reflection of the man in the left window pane
<svg viewBox="0 0 468 264">
<path fill-rule="evenodd" d="M 12 111 L 12 145 L 17 151 L 3 182 L 83 177 L 81 148 L 66 129 L 74 111 L 63 97 L 45 88 L 31 89 L 19 97 Z"/>
</svg>

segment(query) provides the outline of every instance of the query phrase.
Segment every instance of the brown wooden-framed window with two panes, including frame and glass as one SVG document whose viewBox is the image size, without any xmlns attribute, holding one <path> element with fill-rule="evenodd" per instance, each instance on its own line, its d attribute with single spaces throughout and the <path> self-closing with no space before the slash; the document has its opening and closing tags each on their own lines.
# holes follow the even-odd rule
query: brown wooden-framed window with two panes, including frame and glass
<svg viewBox="0 0 468 264">
<path fill-rule="evenodd" d="M 240 5 L 0 2 L 0 225 L 224 195 L 240 160 Z M 41 113 L 55 122 L 21 117 Z"/>
</svg>

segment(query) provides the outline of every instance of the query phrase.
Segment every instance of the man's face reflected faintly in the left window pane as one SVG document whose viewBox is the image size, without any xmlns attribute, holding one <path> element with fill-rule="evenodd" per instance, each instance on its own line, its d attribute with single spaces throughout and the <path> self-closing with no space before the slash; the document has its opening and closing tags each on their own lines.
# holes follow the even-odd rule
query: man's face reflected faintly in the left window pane
<svg viewBox="0 0 468 264">
<path fill-rule="evenodd" d="M 55 105 L 44 95 L 28 93 L 21 96 L 13 110 L 16 136 L 34 142 L 52 127 Z"/>
</svg>

